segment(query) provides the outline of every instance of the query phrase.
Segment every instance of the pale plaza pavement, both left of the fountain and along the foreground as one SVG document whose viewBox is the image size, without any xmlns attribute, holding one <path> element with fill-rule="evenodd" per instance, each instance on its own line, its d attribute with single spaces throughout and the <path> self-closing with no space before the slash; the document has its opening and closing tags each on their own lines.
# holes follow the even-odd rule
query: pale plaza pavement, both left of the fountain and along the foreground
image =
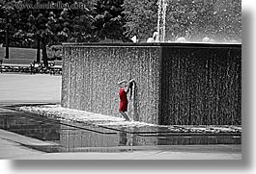
<svg viewBox="0 0 256 174">
<path fill-rule="evenodd" d="M 60 103 L 61 76 L 0 74 L 0 106 L 19 103 Z M 2 112 L 4 112 L 2 110 Z M 1 114 L 1 110 L 0 110 Z M 242 160 L 241 145 L 191 146 L 172 150 L 148 148 L 118 153 L 44 153 L 30 145 L 49 145 L 0 129 L 0 159 L 9 160 Z M 182 146 L 181 146 L 182 147 Z M 182 149 L 182 150 L 179 150 Z"/>
</svg>

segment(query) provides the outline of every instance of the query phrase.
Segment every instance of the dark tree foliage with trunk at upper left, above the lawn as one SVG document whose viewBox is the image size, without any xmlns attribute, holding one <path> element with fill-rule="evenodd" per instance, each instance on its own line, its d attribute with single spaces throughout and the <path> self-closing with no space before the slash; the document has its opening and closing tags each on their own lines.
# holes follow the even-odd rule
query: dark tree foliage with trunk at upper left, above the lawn
<svg viewBox="0 0 256 174">
<path fill-rule="evenodd" d="M 56 3 L 59 0 L 53 0 Z M 90 12 L 93 2 L 83 0 L 63 0 L 64 8 L 56 9 L 34 9 L 37 2 L 49 3 L 48 1 L 23 0 L 23 1 L 0 1 L 0 12 L 3 16 L 10 16 L 12 24 L 10 31 L 14 40 L 26 40 L 27 42 L 37 42 L 37 61 L 40 61 L 40 49 L 43 50 L 43 62 L 47 66 L 46 46 L 63 41 L 90 41 L 92 39 L 93 17 Z M 71 8 L 77 5 L 79 8 Z M 22 8 L 20 8 L 22 7 Z M 91 8 L 91 9 L 90 9 Z M 8 12 L 13 12 L 8 14 Z M 1 13 L 1 14 L 2 14 Z M 2 15 L 1 15 L 2 16 Z M 5 18 L 2 19 L 6 23 Z M 1 21 L 2 21 L 1 20 Z M 0 27 L 5 26 L 1 23 Z M 5 30 L 5 28 L 0 28 Z M 1 31 L 0 31 L 1 32 Z M 2 34 L 2 33 L 1 33 Z M 4 35 L 1 36 L 4 39 Z M 21 44 L 22 45 L 22 44 Z"/>
</svg>

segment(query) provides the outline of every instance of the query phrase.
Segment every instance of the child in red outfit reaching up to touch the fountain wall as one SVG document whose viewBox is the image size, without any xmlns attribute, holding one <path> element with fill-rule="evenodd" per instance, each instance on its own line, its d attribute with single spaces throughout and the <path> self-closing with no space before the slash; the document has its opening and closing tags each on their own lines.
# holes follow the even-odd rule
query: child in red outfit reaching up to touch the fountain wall
<svg viewBox="0 0 256 174">
<path fill-rule="evenodd" d="M 135 82 L 134 79 L 131 79 L 128 83 L 126 80 L 120 81 L 118 83 L 120 90 L 119 90 L 119 96 L 120 96 L 120 106 L 119 106 L 119 112 L 122 114 L 122 116 L 125 117 L 126 121 L 129 121 L 128 114 L 128 91 L 131 87 L 132 83 Z"/>
</svg>

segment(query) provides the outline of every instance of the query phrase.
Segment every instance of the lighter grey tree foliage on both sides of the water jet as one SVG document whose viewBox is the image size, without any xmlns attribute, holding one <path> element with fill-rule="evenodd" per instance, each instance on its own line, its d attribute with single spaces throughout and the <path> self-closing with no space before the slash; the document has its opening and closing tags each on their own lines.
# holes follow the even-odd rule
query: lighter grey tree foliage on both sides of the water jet
<svg viewBox="0 0 256 174">
<path fill-rule="evenodd" d="M 140 40 L 152 37 L 157 25 L 156 3 L 157 0 L 124 1 L 128 37 L 136 35 Z M 241 0 L 167 0 L 167 3 L 165 40 L 242 39 Z"/>
</svg>

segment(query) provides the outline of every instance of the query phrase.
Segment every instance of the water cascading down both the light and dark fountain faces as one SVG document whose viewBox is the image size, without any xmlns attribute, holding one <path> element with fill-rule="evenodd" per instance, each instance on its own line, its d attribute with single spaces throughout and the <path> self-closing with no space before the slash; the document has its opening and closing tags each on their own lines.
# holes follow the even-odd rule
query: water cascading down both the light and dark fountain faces
<svg viewBox="0 0 256 174">
<path fill-rule="evenodd" d="M 159 125 L 241 125 L 242 45 L 64 43 L 62 107 Z"/>
</svg>

